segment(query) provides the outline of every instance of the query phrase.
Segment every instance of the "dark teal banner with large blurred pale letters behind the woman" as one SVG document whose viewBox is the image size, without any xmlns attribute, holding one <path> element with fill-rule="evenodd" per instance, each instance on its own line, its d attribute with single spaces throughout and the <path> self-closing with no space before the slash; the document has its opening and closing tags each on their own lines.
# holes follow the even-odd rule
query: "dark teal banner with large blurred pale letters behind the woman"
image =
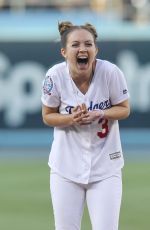
<svg viewBox="0 0 150 230">
<path fill-rule="evenodd" d="M 131 102 L 125 128 L 150 128 L 150 42 L 103 41 L 98 58 L 123 71 Z M 41 86 L 46 71 L 63 61 L 55 42 L 0 43 L 0 128 L 45 127 L 41 117 Z"/>
</svg>

